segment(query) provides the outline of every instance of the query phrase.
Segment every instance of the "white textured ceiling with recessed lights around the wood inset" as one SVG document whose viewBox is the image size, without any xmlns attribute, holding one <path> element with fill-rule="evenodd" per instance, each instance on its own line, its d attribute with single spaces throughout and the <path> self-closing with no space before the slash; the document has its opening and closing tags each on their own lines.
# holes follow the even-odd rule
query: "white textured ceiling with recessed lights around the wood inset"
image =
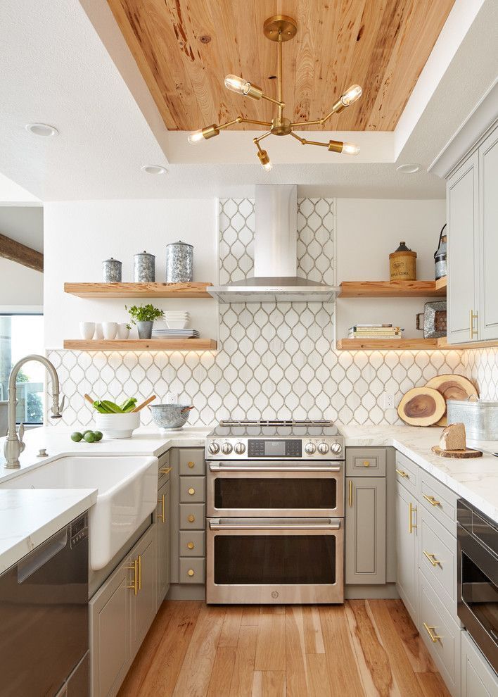
<svg viewBox="0 0 498 697">
<path fill-rule="evenodd" d="M 496 0 L 457 0 L 455 7 L 463 2 L 473 2 L 475 11 L 483 7 L 399 163 L 428 165 L 496 72 L 490 36 Z M 42 201 L 251 195 L 254 184 L 265 182 L 297 183 L 308 195 L 445 195 L 444 183 L 425 170 L 396 172 L 392 134 L 358 134 L 362 156 L 356 163 L 273 138 L 269 175 L 254 163 L 247 132 L 220 134 L 187 149 L 184 134 L 168 133 L 162 124 L 103 0 L 2 0 L 0 65 L 0 171 Z M 34 137 L 24 128 L 30 121 L 56 125 L 60 135 Z M 169 172 L 141 172 L 148 163 L 166 165 Z"/>
</svg>

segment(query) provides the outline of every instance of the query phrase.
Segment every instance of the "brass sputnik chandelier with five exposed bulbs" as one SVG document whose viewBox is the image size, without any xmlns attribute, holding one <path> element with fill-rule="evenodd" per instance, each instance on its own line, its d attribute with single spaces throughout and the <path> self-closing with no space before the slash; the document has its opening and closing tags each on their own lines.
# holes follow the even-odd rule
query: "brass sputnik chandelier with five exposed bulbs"
<svg viewBox="0 0 498 697">
<path fill-rule="evenodd" d="M 231 121 L 222 124 L 213 123 L 211 126 L 206 126 L 205 128 L 200 128 L 198 131 L 193 131 L 189 135 L 189 143 L 196 143 L 202 139 L 208 140 L 214 136 L 219 135 L 219 132 L 224 128 L 234 125 L 235 123 L 254 123 L 259 126 L 267 126 L 269 130 L 264 132 L 260 137 L 254 138 L 254 143 L 257 148 L 256 154 L 260 160 L 262 168 L 269 172 L 272 169 L 272 163 L 268 156 L 266 150 L 262 150 L 260 142 L 267 138 L 269 135 L 291 135 L 293 138 L 298 140 L 302 145 L 319 145 L 327 148 L 329 151 L 334 153 L 346 153 L 347 155 L 357 155 L 359 153 L 359 147 L 353 143 L 343 143 L 340 140 L 329 140 L 328 143 L 318 142 L 316 140 L 307 140 L 306 138 L 301 138 L 294 129 L 300 126 L 311 126 L 311 125 L 323 125 L 326 121 L 331 118 L 332 114 L 338 114 L 343 111 L 347 106 L 350 106 L 353 102 L 357 101 L 360 96 L 362 96 L 362 88 L 359 84 L 353 84 L 349 87 L 344 94 L 336 101 L 336 103 L 331 108 L 331 111 L 322 118 L 314 121 L 298 121 L 292 123 L 288 118 L 283 115 L 283 108 L 286 106 L 282 101 L 283 99 L 283 76 L 282 76 L 282 44 L 283 42 L 290 41 L 295 37 L 298 31 L 298 25 L 291 17 L 286 15 L 275 15 L 266 20 L 263 26 L 264 36 L 270 41 L 276 42 L 279 51 L 279 68 L 277 75 L 277 85 L 278 85 L 278 99 L 273 99 L 273 97 L 264 94 L 261 87 L 257 87 L 255 84 L 244 80 L 243 77 L 238 77 L 237 75 L 226 75 L 225 77 L 225 87 L 231 89 L 232 92 L 237 92 L 238 94 L 243 94 L 244 96 L 251 97 L 252 99 L 266 99 L 276 104 L 278 107 L 278 114 L 272 119 L 272 121 L 256 121 L 251 118 L 244 118 L 243 116 L 237 116 Z"/>
</svg>

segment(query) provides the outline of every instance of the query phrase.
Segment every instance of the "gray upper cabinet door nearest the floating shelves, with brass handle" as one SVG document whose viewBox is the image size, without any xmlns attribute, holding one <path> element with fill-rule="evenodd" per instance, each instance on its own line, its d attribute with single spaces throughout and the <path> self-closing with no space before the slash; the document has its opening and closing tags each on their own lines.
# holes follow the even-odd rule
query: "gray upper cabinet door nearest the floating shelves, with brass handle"
<svg viewBox="0 0 498 697">
<path fill-rule="evenodd" d="M 478 169 L 476 151 L 447 182 L 449 344 L 479 338 L 477 331 L 471 337 L 471 310 L 479 309 Z"/>
</svg>

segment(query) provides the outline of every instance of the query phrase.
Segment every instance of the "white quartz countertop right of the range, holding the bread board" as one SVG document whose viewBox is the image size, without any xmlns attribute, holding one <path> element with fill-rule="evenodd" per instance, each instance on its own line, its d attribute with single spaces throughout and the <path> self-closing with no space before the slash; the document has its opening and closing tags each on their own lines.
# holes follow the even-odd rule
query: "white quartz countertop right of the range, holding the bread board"
<svg viewBox="0 0 498 697">
<path fill-rule="evenodd" d="M 442 428 L 414 426 L 355 426 L 337 424 L 346 446 L 393 446 L 449 489 L 498 523 L 498 441 L 467 440 L 482 458 L 440 458 L 431 448 L 439 444 Z"/>
</svg>

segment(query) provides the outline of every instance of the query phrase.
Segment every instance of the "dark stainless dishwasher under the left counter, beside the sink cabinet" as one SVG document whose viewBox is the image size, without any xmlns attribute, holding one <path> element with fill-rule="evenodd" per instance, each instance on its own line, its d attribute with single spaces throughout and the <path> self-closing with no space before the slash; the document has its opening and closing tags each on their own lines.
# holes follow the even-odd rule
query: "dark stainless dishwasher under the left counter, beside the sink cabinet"
<svg viewBox="0 0 498 697">
<path fill-rule="evenodd" d="M 88 515 L 0 576 L 2 697 L 88 697 Z"/>
</svg>

